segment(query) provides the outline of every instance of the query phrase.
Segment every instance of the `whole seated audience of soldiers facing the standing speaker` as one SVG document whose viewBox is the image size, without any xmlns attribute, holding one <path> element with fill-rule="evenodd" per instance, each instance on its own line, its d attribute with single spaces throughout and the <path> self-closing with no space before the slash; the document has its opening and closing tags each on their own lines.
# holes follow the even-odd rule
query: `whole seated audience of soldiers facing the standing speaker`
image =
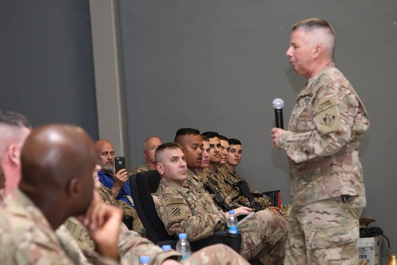
<svg viewBox="0 0 397 265">
<path fill-rule="evenodd" d="M 187 232 L 189 240 L 196 240 L 226 229 L 229 213 L 214 203 L 218 201 L 203 183 L 211 183 L 236 214 L 254 209 L 250 201 L 239 198 L 242 195 L 234 200 L 223 197 L 228 188 L 220 183 L 233 186 L 239 176 L 234 168 L 223 169 L 230 176 L 218 173 L 228 162 L 226 152 L 235 157 L 230 164 L 238 165 L 241 144 L 229 146 L 225 141 L 222 149 L 218 136 L 206 138 L 197 130 L 180 129 L 178 144 L 164 145 L 151 137 L 144 148 L 146 169 L 127 173 L 114 172 L 115 154 L 108 141 L 93 143 L 77 126 L 51 124 L 32 130 L 23 115 L 0 112 L 0 133 L 1 263 L 137 264 L 139 256 L 149 255 L 151 264 L 179 264 L 179 253 L 164 252 L 145 238 L 148 234 L 129 198 L 129 176 L 153 166 L 162 178 L 153 198 L 169 234 Z M 205 172 L 213 175 L 206 180 Z M 256 199 L 261 208 L 268 206 L 268 200 Z M 171 206 L 181 210 L 170 216 Z M 123 216 L 133 217 L 132 230 L 122 223 Z M 248 264 L 252 258 L 263 264 L 283 262 L 287 221 L 277 208 L 257 211 L 239 230 L 242 256 L 215 245 L 183 264 Z"/>
</svg>

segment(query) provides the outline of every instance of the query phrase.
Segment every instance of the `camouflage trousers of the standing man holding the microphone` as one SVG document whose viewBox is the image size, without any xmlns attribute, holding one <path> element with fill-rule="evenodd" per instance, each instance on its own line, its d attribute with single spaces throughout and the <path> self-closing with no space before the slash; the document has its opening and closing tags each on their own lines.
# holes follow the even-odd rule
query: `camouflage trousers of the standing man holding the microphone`
<svg viewBox="0 0 397 265">
<path fill-rule="evenodd" d="M 284 264 L 359 264 L 358 220 L 363 196 L 330 198 L 293 206 L 288 223 Z"/>
</svg>

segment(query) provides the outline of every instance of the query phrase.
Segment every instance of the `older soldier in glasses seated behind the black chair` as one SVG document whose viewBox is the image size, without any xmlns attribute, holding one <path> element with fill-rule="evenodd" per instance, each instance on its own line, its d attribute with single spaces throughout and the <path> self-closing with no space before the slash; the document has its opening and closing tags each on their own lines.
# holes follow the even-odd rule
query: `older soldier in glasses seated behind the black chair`
<svg viewBox="0 0 397 265">
<path fill-rule="evenodd" d="M 154 154 L 156 153 L 157 147 L 159 147 L 159 145 L 161 144 L 162 142 L 160 138 L 158 138 L 157 136 L 150 136 L 148 139 L 146 139 L 144 143 L 144 151 L 142 152 L 142 155 L 144 156 L 146 163 L 128 172 L 128 176 L 133 176 L 139 172 L 155 170 L 156 162 L 155 162 Z"/>
</svg>

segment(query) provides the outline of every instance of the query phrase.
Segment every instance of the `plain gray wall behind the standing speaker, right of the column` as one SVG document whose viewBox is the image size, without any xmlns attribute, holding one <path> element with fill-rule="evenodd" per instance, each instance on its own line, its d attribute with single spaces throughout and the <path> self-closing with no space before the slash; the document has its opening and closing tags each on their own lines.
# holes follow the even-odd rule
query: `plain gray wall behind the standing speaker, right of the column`
<svg viewBox="0 0 397 265">
<path fill-rule="evenodd" d="M 290 27 L 309 17 L 330 21 L 336 65 L 371 117 L 360 147 L 363 216 L 378 219 L 373 226 L 397 253 L 396 1 L 120 0 L 119 12 L 130 165 L 143 164 L 150 135 L 167 142 L 180 127 L 215 130 L 242 141 L 238 171 L 259 190 L 281 189 L 282 203 L 290 202 L 289 173 L 286 155 L 272 148 L 271 102 L 284 99 L 287 123 L 305 84 L 285 56 Z"/>
</svg>

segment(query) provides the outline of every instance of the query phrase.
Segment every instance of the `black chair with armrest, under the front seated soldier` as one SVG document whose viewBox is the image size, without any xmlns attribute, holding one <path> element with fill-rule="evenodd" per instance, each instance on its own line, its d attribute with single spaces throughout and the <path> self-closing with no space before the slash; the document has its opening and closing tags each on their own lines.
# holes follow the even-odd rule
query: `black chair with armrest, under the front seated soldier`
<svg viewBox="0 0 397 265">
<path fill-rule="evenodd" d="M 159 246 L 171 245 L 171 247 L 175 249 L 178 239 L 169 235 L 165 230 L 163 222 L 157 215 L 151 195 L 157 191 L 159 183 L 160 175 L 156 170 L 131 176 L 130 185 L 132 198 L 139 219 L 149 233 L 151 240 Z M 239 252 L 241 248 L 241 234 L 231 234 L 227 231 L 215 231 L 211 236 L 190 242 L 190 246 L 192 251 L 196 251 L 206 246 L 219 243 L 228 245 Z"/>
</svg>

